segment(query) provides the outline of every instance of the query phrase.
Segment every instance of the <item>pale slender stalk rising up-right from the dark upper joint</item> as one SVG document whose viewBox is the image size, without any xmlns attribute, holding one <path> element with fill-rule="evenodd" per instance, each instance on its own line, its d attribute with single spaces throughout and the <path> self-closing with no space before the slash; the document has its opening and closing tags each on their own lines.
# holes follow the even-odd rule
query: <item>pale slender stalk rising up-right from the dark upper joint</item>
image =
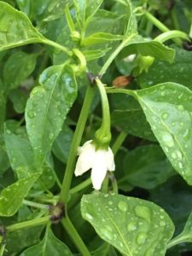
<svg viewBox="0 0 192 256">
<path fill-rule="evenodd" d="M 129 38 L 125 38 L 121 44 L 113 51 L 113 53 L 108 57 L 108 60 L 105 62 L 105 64 L 102 66 L 102 69 L 99 72 L 99 77 L 102 77 L 104 73 L 106 73 L 108 67 L 111 65 L 112 61 L 115 59 L 117 55 L 119 55 L 119 52 L 124 49 L 124 47 L 128 44 L 128 42 L 133 38 L 135 34 L 131 35 Z"/>
</svg>

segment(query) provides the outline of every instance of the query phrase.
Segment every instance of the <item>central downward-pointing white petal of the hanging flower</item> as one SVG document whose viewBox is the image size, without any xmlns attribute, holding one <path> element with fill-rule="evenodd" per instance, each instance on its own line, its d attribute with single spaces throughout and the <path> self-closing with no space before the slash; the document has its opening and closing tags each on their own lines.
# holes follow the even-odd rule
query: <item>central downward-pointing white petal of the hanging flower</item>
<svg viewBox="0 0 192 256">
<path fill-rule="evenodd" d="M 94 165 L 92 167 L 91 176 L 90 176 L 93 184 L 93 188 L 96 190 L 101 189 L 102 182 L 108 171 L 106 156 L 107 156 L 106 150 L 96 151 Z"/>
</svg>

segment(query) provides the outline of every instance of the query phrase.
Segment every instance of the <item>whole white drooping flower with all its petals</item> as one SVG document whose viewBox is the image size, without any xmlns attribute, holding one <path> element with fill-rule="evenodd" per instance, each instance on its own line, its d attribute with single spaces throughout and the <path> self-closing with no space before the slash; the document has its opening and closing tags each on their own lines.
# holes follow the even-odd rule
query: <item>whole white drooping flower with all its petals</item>
<svg viewBox="0 0 192 256">
<path fill-rule="evenodd" d="M 75 176 L 80 176 L 91 169 L 91 181 L 94 189 L 101 189 L 108 171 L 114 171 L 113 152 L 111 148 L 97 149 L 92 141 L 79 147 L 79 159 L 75 167 Z"/>
</svg>

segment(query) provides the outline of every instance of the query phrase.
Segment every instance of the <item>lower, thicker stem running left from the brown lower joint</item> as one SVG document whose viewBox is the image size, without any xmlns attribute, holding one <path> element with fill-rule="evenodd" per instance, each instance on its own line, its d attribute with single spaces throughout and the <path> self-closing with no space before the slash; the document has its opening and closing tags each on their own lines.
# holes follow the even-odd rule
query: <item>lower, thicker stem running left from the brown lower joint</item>
<svg viewBox="0 0 192 256">
<path fill-rule="evenodd" d="M 21 230 L 26 228 L 32 228 L 39 225 L 48 224 L 50 221 L 50 216 L 45 216 L 42 218 L 34 218 L 32 220 L 26 220 L 17 224 L 12 224 L 6 227 L 8 232 L 14 232 L 15 230 Z"/>
</svg>

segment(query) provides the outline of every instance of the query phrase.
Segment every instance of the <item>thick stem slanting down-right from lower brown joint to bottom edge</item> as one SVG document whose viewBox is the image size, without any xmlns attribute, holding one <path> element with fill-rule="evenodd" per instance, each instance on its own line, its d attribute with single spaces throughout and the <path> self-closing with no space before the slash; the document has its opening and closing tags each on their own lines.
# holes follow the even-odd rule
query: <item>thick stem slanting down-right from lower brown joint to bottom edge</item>
<svg viewBox="0 0 192 256">
<path fill-rule="evenodd" d="M 88 248 L 84 245 L 84 241 L 79 236 L 77 230 L 75 230 L 71 220 L 68 218 L 62 218 L 61 224 L 63 225 L 64 229 L 67 231 L 67 234 L 73 240 L 74 245 L 79 249 L 79 253 L 83 256 L 90 256 L 90 252 Z"/>
</svg>

